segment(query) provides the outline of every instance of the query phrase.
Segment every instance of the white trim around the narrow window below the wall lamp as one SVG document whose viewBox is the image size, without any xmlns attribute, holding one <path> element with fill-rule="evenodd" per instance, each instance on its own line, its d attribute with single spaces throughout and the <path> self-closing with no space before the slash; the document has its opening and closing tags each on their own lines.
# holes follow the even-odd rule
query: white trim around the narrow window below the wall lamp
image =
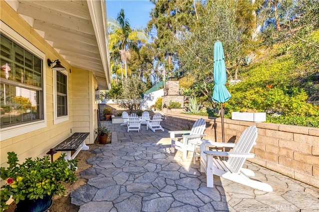
<svg viewBox="0 0 319 212">
<path fill-rule="evenodd" d="M 66 75 L 66 104 L 67 104 L 67 115 L 58 117 L 57 114 L 57 94 L 56 94 L 56 71 L 53 71 L 53 124 L 58 124 L 69 120 L 69 75 L 66 70 L 60 71 Z"/>
</svg>

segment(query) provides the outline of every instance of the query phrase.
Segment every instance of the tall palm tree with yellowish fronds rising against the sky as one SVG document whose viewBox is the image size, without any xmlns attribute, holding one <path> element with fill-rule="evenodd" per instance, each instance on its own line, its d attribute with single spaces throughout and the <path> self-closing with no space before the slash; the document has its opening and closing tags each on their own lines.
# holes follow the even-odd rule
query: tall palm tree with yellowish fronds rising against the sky
<svg viewBox="0 0 319 212">
<path fill-rule="evenodd" d="M 121 9 L 116 20 L 108 22 L 109 45 L 111 52 L 119 52 L 121 68 L 125 66 L 125 78 L 128 78 L 127 61 L 130 59 L 130 51 L 139 51 L 138 43 L 146 42 L 148 37 L 142 30 L 132 29 L 129 20 L 125 17 L 124 9 Z M 123 81 L 123 76 L 122 76 Z"/>
</svg>

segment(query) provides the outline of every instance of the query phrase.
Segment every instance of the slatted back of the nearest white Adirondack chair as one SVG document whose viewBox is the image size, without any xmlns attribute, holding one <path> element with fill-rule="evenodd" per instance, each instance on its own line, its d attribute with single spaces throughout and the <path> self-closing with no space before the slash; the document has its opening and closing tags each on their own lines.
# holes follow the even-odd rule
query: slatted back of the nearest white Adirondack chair
<svg viewBox="0 0 319 212">
<path fill-rule="evenodd" d="M 250 126 L 244 130 L 239 137 L 232 152 L 249 153 L 256 144 L 258 131 L 256 126 Z M 246 158 L 230 157 L 227 163 L 231 166 L 234 173 L 238 173 L 244 165 Z"/>
</svg>

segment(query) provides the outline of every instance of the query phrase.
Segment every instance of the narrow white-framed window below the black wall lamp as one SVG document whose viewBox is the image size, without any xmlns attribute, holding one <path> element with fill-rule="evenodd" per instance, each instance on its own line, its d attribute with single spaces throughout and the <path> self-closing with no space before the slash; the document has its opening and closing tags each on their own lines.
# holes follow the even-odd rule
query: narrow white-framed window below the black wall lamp
<svg viewBox="0 0 319 212">
<path fill-rule="evenodd" d="M 67 71 L 54 71 L 54 124 L 62 121 L 67 121 L 68 116 L 68 72 Z"/>
</svg>

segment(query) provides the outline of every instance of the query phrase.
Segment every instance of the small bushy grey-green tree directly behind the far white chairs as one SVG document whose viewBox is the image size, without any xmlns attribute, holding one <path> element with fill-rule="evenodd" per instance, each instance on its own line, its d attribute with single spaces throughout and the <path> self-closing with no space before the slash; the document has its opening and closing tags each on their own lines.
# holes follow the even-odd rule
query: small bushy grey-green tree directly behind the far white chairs
<svg viewBox="0 0 319 212">
<path fill-rule="evenodd" d="M 120 106 L 130 109 L 138 109 L 142 101 L 142 94 L 146 91 L 146 85 L 138 77 L 125 79 Z"/>
</svg>

